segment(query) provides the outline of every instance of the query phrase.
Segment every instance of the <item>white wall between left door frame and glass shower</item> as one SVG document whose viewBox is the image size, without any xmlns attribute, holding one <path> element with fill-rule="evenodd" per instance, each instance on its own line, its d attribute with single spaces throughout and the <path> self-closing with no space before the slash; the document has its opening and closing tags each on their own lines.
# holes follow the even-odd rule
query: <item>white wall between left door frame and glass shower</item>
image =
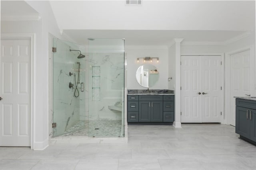
<svg viewBox="0 0 256 170">
<path fill-rule="evenodd" d="M 34 146 L 48 146 L 48 33 L 60 38 L 60 31 L 48 1 L 27 1 L 38 13 L 39 21 L 2 21 L 1 33 L 35 33 Z"/>
</svg>

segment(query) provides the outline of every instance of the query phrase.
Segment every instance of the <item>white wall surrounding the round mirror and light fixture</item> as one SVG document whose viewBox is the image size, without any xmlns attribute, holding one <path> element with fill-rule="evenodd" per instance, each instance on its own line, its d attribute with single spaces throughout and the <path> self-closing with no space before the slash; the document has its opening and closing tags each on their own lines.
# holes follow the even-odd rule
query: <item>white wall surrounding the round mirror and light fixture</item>
<svg viewBox="0 0 256 170">
<path fill-rule="evenodd" d="M 147 89 L 140 86 L 136 80 L 136 71 L 140 65 L 152 64 L 159 70 L 158 82 L 149 89 L 168 89 L 168 49 L 166 47 L 125 47 L 125 53 L 127 57 L 127 89 Z M 137 63 L 139 57 L 159 57 L 159 63 L 156 60 L 146 61 L 140 59 L 140 63 Z"/>
</svg>

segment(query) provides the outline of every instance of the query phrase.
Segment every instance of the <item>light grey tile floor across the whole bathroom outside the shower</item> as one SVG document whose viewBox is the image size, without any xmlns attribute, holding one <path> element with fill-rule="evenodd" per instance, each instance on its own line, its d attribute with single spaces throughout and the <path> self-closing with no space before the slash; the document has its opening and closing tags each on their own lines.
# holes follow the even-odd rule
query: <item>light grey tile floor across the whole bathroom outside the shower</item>
<svg viewBox="0 0 256 170">
<path fill-rule="evenodd" d="M 128 143 L 0 147 L 0 170 L 255 170 L 256 147 L 220 124 L 129 125 Z"/>
</svg>

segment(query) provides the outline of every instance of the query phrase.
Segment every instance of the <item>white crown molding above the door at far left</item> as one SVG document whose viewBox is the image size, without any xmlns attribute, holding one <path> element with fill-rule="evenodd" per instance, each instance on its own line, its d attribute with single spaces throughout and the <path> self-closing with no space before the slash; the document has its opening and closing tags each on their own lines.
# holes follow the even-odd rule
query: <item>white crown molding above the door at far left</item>
<svg viewBox="0 0 256 170">
<path fill-rule="evenodd" d="M 34 14 L 1 14 L 1 21 L 39 21 L 41 15 Z"/>
</svg>

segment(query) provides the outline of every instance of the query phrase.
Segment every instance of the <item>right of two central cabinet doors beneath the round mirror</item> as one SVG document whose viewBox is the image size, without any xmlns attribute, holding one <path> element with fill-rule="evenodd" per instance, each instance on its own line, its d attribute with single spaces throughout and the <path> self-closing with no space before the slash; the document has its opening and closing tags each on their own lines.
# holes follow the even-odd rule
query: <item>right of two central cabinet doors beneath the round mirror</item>
<svg viewBox="0 0 256 170">
<path fill-rule="evenodd" d="M 163 102 L 154 101 L 151 102 L 151 121 L 162 122 L 163 121 Z"/>
</svg>

